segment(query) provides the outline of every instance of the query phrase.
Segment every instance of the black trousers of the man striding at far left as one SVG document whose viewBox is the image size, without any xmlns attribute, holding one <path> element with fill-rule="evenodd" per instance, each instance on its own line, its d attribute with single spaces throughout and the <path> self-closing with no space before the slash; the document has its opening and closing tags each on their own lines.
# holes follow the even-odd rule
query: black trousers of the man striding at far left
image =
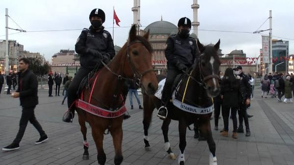
<svg viewBox="0 0 294 165">
<path fill-rule="evenodd" d="M 34 114 L 34 107 L 23 107 L 22 117 L 20 120 L 20 128 L 16 135 L 16 138 L 14 139 L 13 143 L 19 144 L 25 134 L 25 128 L 28 123 L 28 121 L 34 125 L 34 127 L 38 130 L 40 133 L 40 136 L 44 136 L 45 131 L 42 129 L 42 126 L 37 121 L 35 114 Z"/>
</svg>

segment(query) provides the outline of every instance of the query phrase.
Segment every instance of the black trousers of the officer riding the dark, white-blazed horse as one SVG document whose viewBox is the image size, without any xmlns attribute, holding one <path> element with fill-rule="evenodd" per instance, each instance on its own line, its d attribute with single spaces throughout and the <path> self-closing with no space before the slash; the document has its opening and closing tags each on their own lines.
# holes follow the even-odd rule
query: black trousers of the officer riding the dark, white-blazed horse
<svg viewBox="0 0 294 165">
<path fill-rule="evenodd" d="M 174 79 L 177 75 L 181 74 L 182 72 L 177 69 L 169 69 L 168 70 L 168 75 L 166 78 L 166 82 L 163 87 L 162 91 L 162 99 L 161 101 L 167 105 L 169 103 L 169 100 L 172 97 L 172 84 L 174 82 Z"/>
</svg>

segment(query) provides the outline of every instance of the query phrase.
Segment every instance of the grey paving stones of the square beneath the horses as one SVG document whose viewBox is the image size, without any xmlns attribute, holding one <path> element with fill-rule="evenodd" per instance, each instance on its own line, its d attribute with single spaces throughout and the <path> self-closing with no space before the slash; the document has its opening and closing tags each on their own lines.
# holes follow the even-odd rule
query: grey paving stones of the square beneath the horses
<svg viewBox="0 0 294 165">
<path fill-rule="evenodd" d="M 219 131 L 213 130 L 217 144 L 218 165 L 294 165 L 294 103 L 278 103 L 276 99 L 262 99 L 256 90 L 248 113 L 251 136 L 238 134 L 238 139 L 231 138 L 232 122 L 229 123 L 229 137 L 220 137 Z M 83 139 L 77 118 L 73 124 L 61 122 L 66 105 L 61 105 L 63 97 L 48 97 L 47 90 L 39 91 L 39 105 L 35 115 L 49 141 L 34 144 L 39 138 L 36 129 L 28 124 L 25 136 L 16 151 L 0 151 L 0 165 L 98 165 L 97 150 L 88 125 L 90 159 L 82 160 Z M 143 113 L 138 109 L 136 100 L 134 110 L 127 108 L 131 118 L 123 122 L 123 164 L 122 165 L 176 165 L 177 160 L 170 160 L 164 150 L 161 131 L 162 121 L 153 113 L 149 128 L 150 151 L 145 151 L 143 142 Z M 142 101 L 142 98 L 141 98 Z M 142 102 L 141 102 L 142 103 Z M 65 103 L 66 104 L 66 103 Z M 0 95 L 0 147 L 10 144 L 15 138 L 21 116 L 19 100 Z M 172 151 L 178 155 L 177 122 L 172 121 L 169 139 Z M 214 121 L 211 121 L 214 127 Z M 223 127 L 222 120 L 219 128 Z M 194 132 L 187 131 L 185 165 L 208 165 L 208 145 L 193 138 Z M 104 136 L 104 150 L 107 165 L 114 164 L 114 147 L 110 135 Z"/>
</svg>

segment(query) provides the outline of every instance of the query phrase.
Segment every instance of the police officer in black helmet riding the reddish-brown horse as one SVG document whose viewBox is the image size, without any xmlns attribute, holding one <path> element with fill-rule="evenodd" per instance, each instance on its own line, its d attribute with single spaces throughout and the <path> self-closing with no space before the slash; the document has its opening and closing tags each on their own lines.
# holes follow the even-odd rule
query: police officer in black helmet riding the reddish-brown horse
<svg viewBox="0 0 294 165">
<path fill-rule="evenodd" d="M 81 35 L 75 43 L 75 52 L 80 55 L 80 64 L 73 82 L 68 89 L 68 107 L 77 99 L 77 90 L 82 79 L 87 76 L 97 64 L 102 60 L 109 63 L 115 55 L 113 40 L 108 31 L 104 30 L 102 23 L 105 21 L 105 13 L 101 9 L 93 9 L 89 20 L 89 29 L 83 29 Z M 69 113 L 63 117 L 64 122 L 72 122 L 75 107 L 72 106 Z"/>
</svg>

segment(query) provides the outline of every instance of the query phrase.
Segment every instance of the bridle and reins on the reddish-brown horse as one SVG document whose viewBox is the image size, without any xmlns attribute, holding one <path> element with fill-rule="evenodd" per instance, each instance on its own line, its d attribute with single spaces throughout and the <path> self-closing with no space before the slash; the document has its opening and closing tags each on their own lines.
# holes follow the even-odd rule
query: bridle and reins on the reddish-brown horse
<svg viewBox="0 0 294 165">
<path fill-rule="evenodd" d="M 124 79 L 124 80 L 130 80 L 130 79 L 131 79 L 131 80 L 134 80 L 134 79 L 135 79 L 135 80 L 139 80 L 139 82 L 141 82 L 141 79 L 142 79 L 142 77 L 143 77 L 144 75 L 146 75 L 148 72 L 151 72 L 151 71 L 154 70 L 153 68 L 150 68 L 150 69 L 147 69 L 147 70 L 143 71 L 142 73 L 140 73 L 140 72 L 136 69 L 136 67 L 134 66 L 134 63 L 131 61 L 131 58 L 130 58 L 130 55 L 129 55 L 129 47 L 130 47 L 130 45 L 135 44 L 135 43 L 142 43 L 142 44 L 143 44 L 143 42 L 142 42 L 142 41 L 139 41 L 139 40 L 135 40 L 135 41 L 133 41 L 133 42 L 131 42 L 131 43 L 128 43 L 127 48 L 126 48 L 126 56 L 125 56 L 125 58 L 128 59 L 129 64 L 131 65 L 131 69 L 132 69 L 132 72 L 133 72 L 133 75 L 134 75 L 133 78 L 127 78 L 127 77 L 124 77 L 124 76 L 122 76 L 122 75 L 119 75 L 119 74 L 115 73 L 114 71 L 112 71 L 112 70 L 107 66 L 106 63 L 104 63 L 104 62 L 101 60 L 101 62 L 102 62 L 102 64 L 104 65 L 104 67 L 105 67 L 107 70 L 109 70 L 112 74 L 116 75 L 116 76 L 118 77 L 119 80 L 122 80 L 122 79 Z M 143 44 L 143 45 L 144 45 L 144 44 Z M 145 45 L 144 45 L 144 46 L 145 46 Z M 124 59 L 124 60 L 125 60 L 125 59 Z M 123 66 L 123 68 L 124 68 L 124 66 Z"/>
</svg>

